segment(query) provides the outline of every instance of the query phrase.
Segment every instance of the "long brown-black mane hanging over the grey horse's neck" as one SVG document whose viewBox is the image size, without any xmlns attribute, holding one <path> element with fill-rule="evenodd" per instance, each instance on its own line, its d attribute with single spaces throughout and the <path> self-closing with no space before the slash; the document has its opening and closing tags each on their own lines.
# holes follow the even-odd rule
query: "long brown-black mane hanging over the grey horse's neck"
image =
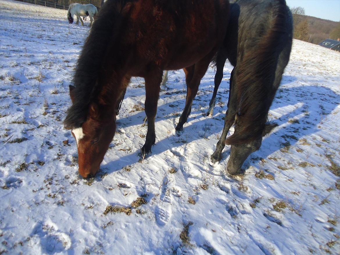
<svg viewBox="0 0 340 255">
<path fill-rule="evenodd" d="M 250 142 L 262 135 L 269 107 L 274 99 L 283 70 L 288 63 L 291 47 L 291 14 L 284 0 L 276 0 L 268 14 L 267 32 L 246 50 L 236 65 L 237 120 L 239 124 L 233 135 L 226 139 L 228 145 Z M 276 8 L 275 8 L 276 6 Z M 290 45 L 290 46 L 289 46 Z M 285 59 L 279 61 L 280 53 L 289 46 Z M 240 55 L 240 54 L 239 54 Z M 281 63 L 285 63 L 279 72 Z M 282 67 L 282 66 L 281 66 Z M 280 68 L 281 68 L 280 67 Z M 277 75 L 279 73 L 279 75 Z M 277 77 L 276 77 L 277 76 Z"/>
</svg>

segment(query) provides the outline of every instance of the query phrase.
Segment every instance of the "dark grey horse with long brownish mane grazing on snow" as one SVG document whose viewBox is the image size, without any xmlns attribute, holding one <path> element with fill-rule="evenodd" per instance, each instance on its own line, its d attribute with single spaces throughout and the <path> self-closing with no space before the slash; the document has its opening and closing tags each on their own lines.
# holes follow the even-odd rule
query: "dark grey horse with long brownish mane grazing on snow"
<svg viewBox="0 0 340 255">
<path fill-rule="evenodd" d="M 232 0 L 224 47 L 216 55 L 214 94 L 207 115 L 212 115 L 226 59 L 234 66 L 230 77 L 224 128 L 211 162 L 221 159 L 225 144 L 231 145 L 227 170 L 241 171 L 245 159 L 261 146 L 262 136 L 276 124 L 267 115 L 289 61 L 292 15 L 285 0 Z M 235 123 L 235 132 L 225 139 Z"/>
</svg>

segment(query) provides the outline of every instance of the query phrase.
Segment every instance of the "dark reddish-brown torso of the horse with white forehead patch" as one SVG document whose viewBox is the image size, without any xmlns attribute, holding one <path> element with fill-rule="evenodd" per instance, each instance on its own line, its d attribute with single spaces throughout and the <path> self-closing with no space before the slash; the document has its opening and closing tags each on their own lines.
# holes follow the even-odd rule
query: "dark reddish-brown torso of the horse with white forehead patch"
<svg viewBox="0 0 340 255">
<path fill-rule="evenodd" d="M 135 63 L 147 59 L 162 69 L 187 67 L 220 47 L 228 12 L 228 2 L 220 0 L 134 1 L 118 48 L 131 52 Z"/>
</svg>

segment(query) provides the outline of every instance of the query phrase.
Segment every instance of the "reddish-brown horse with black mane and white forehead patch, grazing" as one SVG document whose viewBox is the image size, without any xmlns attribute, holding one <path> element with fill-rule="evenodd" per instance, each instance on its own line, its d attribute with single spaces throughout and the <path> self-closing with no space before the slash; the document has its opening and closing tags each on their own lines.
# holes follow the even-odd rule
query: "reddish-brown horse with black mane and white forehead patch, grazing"
<svg viewBox="0 0 340 255">
<path fill-rule="evenodd" d="M 141 156 L 155 143 L 163 70 L 183 68 L 187 97 L 176 126 L 183 130 L 212 57 L 223 43 L 227 0 L 107 1 L 83 47 L 64 121 L 77 141 L 79 173 L 96 174 L 116 130 L 116 108 L 132 76 L 145 79 L 148 132 Z M 92 65 L 87 65 L 91 62 Z"/>
</svg>

